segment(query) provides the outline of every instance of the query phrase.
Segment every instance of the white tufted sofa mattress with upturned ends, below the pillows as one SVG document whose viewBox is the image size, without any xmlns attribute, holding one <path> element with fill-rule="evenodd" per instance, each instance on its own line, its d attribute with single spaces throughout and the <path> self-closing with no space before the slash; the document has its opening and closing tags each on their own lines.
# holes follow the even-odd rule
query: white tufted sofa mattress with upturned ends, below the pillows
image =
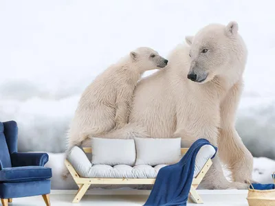
<svg viewBox="0 0 275 206">
<path fill-rule="evenodd" d="M 210 145 L 202 146 L 195 160 L 194 176 L 197 176 L 206 161 L 210 159 L 216 151 Z M 156 178 L 157 172 L 166 165 L 92 165 L 85 152 L 78 147 L 74 147 L 67 157 L 76 172 L 82 177 L 89 178 L 128 178 L 146 179 Z"/>
</svg>

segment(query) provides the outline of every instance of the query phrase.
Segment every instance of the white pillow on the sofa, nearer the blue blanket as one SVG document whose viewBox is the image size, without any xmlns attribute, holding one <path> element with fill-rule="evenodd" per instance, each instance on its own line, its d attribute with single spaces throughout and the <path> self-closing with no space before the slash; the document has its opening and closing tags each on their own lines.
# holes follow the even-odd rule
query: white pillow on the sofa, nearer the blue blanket
<svg viewBox="0 0 275 206">
<path fill-rule="evenodd" d="M 171 165 L 181 159 L 181 138 L 135 138 L 135 165 Z"/>
</svg>

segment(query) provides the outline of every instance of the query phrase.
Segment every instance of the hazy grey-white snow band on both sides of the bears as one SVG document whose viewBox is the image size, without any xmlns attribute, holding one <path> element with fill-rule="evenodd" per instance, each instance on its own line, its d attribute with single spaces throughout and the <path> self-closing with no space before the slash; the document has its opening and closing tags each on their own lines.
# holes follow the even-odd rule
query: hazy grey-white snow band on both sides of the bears
<svg viewBox="0 0 275 206">
<path fill-rule="evenodd" d="M 19 150 L 64 152 L 65 132 L 78 98 L 5 100 L 0 102 L 0 120 L 17 120 Z M 275 98 L 244 96 L 236 127 L 255 157 L 275 159 Z"/>
</svg>

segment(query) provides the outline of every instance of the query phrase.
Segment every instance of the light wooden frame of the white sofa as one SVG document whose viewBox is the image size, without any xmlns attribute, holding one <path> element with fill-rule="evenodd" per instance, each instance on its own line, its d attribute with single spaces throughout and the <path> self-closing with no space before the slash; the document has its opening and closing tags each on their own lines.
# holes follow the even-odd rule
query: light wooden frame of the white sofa
<svg viewBox="0 0 275 206">
<path fill-rule="evenodd" d="M 83 148 L 86 153 L 91 153 L 91 148 Z M 188 148 L 181 148 L 181 155 L 184 155 L 187 152 Z M 90 185 L 153 185 L 155 183 L 155 179 L 118 179 L 118 178 L 85 178 L 81 177 L 76 170 L 74 170 L 72 164 L 65 159 L 65 165 L 69 170 L 69 173 L 72 174 L 72 177 L 79 189 L 74 197 L 72 203 L 79 203 L 81 198 L 83 198 L 85 192 L 89 189 Z M 203 177 L 208 172 L 210 166 L 212 165 L 212 160 L 208 159 L 206 164 L 203 165 L 203 168 L 197 174 L 197 176 L 192 180 L 192 185 L 190 189 L 190 200 L 197 204 L 203 204 L 203 201 L 199 194 L 197 194 L 197 187 L 199 183 L 201 183 Z"/>
</svg>

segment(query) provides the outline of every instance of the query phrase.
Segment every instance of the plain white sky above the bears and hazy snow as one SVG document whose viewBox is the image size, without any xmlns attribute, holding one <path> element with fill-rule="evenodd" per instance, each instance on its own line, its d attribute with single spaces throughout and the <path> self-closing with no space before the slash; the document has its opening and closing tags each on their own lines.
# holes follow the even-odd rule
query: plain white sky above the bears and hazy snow
<svg viewBox="0 0 275 206">
<path fill-rule="evenodd" d="M 79 93 L 135 47 L 166 56 L 204 25 L 234 20 L 250 52 L 246 93 L 273 95 L 274 5 L 272 0 L 1 0 L 0 87 L 13 88 L 20 80 L 16 90 L 26 93 L 30 88 Z"/>
</svg>

